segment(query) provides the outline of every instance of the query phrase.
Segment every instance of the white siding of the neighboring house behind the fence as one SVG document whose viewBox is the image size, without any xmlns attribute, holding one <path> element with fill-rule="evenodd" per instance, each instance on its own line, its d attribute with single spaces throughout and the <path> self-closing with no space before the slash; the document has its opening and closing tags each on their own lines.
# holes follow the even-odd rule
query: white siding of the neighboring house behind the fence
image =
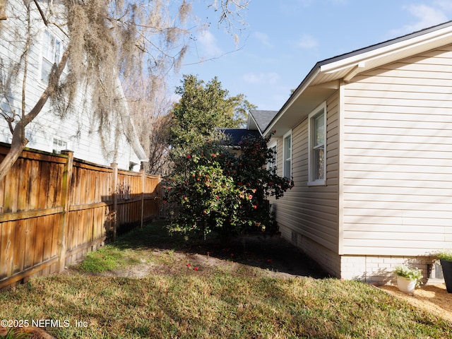
<svg viewBox="0 0 452 339">
<path fill-rule="evenodd" d="M 14 66 L 14 63 L 20 59 L 23 53 L 24 47 L 19 44 L 22 40 L 18 36 L 24 36 L 26 32 L 26 26 L 23 25 L 23 21 L 20 19 L 26 17 L 24 8 L 20 1 L 8 1 L 8 20 L 1 23 L 0 30 L 0 76 L 2 78 L 11 73 L 11 67 Z M 34 7 L 32 6 L 32 8 Z M 58 29 L 53 29 L 52 25 L 46 28 L 36 8 L 32 11 L 31 17 L 32 37 L 35 40 L 32 42 L 29 55 L 25 87 L 25 114 L 30 112 L 30 109 L 35 105 L 46 88 L 46 84 L 41 81 L 44 32 L 49 30 L 60 42 L 65 39 L 64 34 Z M 0 108 L 4 112 L 13 110 L 16 114 L 21 113 L 22 80 L 22 75 L 13 79 L 11 86 L 6 91 L 8 98 L 0 93 Z M 93 117 L 93 109 L 90 106 L 89 94 L 85 96 L 78 93 L 74 106 L 76 107 L 74 112 L 71 112 L 66 119 L 60 119 L 48 101 L 38 117 L 26 128 L 25 133 L 29 140 L 27 147 L 52 152 L 53 140 L 57 138 L 65 141 L 67 148 L 73 150 L 74 157 L 78 159 L 95 162 L 100 165 L 110 165 L 112 162 L 117 162 L 120 169 L 129 169 L 129 162 L 131 161 L 140 164 L 138 155 L 124 133 L 126 127 L 118 134 L 114 131 L 115 124 L 112 124 L 113 128 L 109 130 L 108 136 L 105 137 L 107 152 L 102 150 L 100 135 L 97 133 Z M 124 105 L 124 114 L 128 114 L 126 105 Z M 110 119 L 112 119 L 111 122 L 113 123 L 122 120 L 119 116 L 111 117 Z M 124 121 L 119 122 L 119 124 L 129 126 L 128 119 L 129 117 L 124 117 L 126 124 L 124 124 Z M 11 143 L 11 137 L 11 131 L 9 131 L 6 120 L 0 117 L 0 142 Z M 139 166 L 135 167 L 135 169 L 138 170 Z"/>
</svg>

